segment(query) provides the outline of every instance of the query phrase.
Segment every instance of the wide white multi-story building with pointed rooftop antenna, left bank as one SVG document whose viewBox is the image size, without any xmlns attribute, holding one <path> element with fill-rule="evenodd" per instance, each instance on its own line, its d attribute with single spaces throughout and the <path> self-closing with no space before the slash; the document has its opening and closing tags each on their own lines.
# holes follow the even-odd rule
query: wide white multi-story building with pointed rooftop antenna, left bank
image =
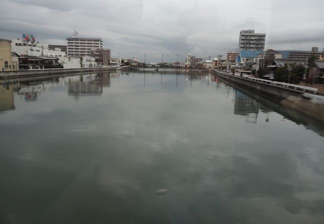
<svg viewBox="0 0 324 224">
<path fill-rule="evenodd" d="M 71 56 L 91 55 L 91 48 L 102 48 L 102 38 L 81 38 L 79 34 L 74 31 L 72 37 L 67 40 L 67 54 Z"/>
</svg>

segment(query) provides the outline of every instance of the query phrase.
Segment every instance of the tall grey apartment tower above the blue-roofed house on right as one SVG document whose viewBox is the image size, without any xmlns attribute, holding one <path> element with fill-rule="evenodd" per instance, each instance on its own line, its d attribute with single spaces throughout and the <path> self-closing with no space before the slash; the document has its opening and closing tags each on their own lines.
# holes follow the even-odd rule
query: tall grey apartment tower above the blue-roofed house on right
<svg viewBox="0 0 324 224">
<path fill-rule="evenodd" d="M 254 29 L 241 30 L 238 50 L 263 51 L 265 42 L 265 33 L 255 33 Z"/>
</svg>

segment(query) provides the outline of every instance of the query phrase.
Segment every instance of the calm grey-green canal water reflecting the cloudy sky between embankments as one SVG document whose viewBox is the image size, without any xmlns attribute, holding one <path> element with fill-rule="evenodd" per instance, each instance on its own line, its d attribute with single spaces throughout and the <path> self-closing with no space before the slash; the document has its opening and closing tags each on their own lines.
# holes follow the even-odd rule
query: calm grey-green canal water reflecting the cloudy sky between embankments
<svg viewBox="0 0 324 224">
<path fill-rule="evenodd" d="M 1 84 L 0 223 L 323 224 L 307 120 L 207 73 Z"/>
</svg>

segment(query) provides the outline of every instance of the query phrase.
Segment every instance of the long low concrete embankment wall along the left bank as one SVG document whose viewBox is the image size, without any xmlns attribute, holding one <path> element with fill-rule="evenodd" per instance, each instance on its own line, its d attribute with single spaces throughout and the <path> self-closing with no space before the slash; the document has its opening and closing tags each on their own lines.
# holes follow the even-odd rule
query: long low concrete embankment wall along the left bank
<svg viewBox="0 0 324 224">
<path fill-rule="evenodd" d="M 15 79 L 35 76 L 50 76 L 57 74 L 81 73 L 81 72 L 104 72 L 114 71 L 116 68 L 74 68 L 74 69 L 37 69 L 26 71 L 0 72 L 0 79 Z"/>
</svg>

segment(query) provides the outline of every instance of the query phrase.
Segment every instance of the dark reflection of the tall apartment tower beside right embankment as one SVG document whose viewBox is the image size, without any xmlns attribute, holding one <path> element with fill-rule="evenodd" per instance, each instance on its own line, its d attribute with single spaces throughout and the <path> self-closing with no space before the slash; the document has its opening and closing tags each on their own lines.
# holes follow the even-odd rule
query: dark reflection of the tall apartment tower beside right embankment
<svg viewBox="0 0 324 224">
<path fill-rule="evenodd" d="M 256 123 L 260 103 L 237 90 L 234 90 L 234 95 L 234 114 L 246 116 L 248 123 Z"/>
</svg>

